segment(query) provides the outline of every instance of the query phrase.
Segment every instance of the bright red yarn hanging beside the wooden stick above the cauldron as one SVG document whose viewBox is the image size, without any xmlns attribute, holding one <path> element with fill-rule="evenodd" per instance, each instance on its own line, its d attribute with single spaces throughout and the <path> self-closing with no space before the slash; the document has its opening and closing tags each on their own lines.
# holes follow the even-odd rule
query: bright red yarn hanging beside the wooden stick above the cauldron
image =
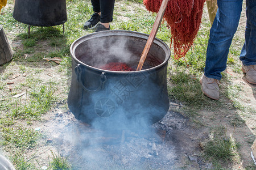
<svg viewBox="0 0 256 170">
<path fill-rule="evenodd" d="M 205 0 L 170 0 L 164 20 L 171 32 L 171 45 L 174 43 L 174 58 L 185 57 L 193 45 L 201 24 Z M 158 12 L 162 0 L 143 0 L 146 9 Z"/>
</svg>

